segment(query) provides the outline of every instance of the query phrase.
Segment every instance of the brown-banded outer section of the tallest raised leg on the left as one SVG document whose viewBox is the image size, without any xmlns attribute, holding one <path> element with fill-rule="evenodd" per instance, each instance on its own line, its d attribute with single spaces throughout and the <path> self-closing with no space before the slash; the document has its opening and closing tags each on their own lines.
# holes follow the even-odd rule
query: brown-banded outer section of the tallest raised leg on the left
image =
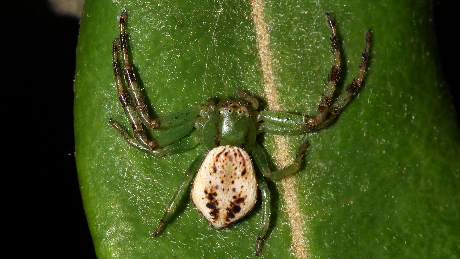
<svg viewBox="0 0 460 259">
<path fill-rule="evenodd" d="M 121 59 L 123 60 L 123 72 L 128 85 L 128 91 L 131 94 L 134 102 L 135 112 L 142 123 L 150 129 L 159 129 L 161 124 L 158 118 L 150 118 L 147 108 L 144 103 L 144 96 L 139 89 L 138 82 L 132 71 L 132 66 L 129 63 L 128 50 L 125 33 L 126 24 L 126 10 L 123 10 L 120 14 L 120 41 L 121 41 Z"/>
</svg>

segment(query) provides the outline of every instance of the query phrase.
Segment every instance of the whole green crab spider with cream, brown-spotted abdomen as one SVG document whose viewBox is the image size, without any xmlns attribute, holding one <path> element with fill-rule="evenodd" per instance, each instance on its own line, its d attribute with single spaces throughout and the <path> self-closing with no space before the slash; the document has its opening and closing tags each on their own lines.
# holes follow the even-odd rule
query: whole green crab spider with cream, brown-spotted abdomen
<svg viewBox="0 0 460 259">
<path fill-rule="evenodd" d="M 256 142 L 256 136 L 262 132 L 299 135 L 329 125 L 361 86 L 369 58 L 371 31 L 368 30 L 365 34 L 366 44 L 357 77 L 332 101 L 340 72 L 339 43 L 334 20 L 326 13 L 327 23 L 331 29 L 334 63 L 314 116 L 259 111 L 258 100 L 253 95 L 239 90 L 236 91 L 238 99 L 224 98 L 218 101 L 211 98 L 206 105 L 191 106 L 160 118 L 151 118 L 128 59 L 126 18 L 126 11 L 122 11 L 120 39 L 116 38 L 113 41 L 113 68 L 118 98 L 131 124 L 133 137 L 111 118 L 110 124 L 121 133 L 130 146 L 154 156 L 185 152 L 198 144 L 204 144 L 208 150 L 207 153 L 200 154 L 185 171 L 154 236 L 160 234 L 192 180 L 192 203 L 216 229 L 226 227 L 249 213 L 257 200 L 259 188 L 263 212 L 255 247 L 255 256 L 259 256 L 270 219 L 270 192 L 264 177 L 275 180 L 298 171 L 307 143 L 304 141 L 300 144 L 295 161 L 291 165 L 271 171 L 262 147 Z M 122 86 L 119 49 L 130 98 Z M 149 129 L 164 131 L 153 139 L 147 139 L 143 125 Z M 201 131 L 201 137 L 189 135 L 193 128 Z M 253 162 L 259 171 L 254 170 Z"/>
</svg>

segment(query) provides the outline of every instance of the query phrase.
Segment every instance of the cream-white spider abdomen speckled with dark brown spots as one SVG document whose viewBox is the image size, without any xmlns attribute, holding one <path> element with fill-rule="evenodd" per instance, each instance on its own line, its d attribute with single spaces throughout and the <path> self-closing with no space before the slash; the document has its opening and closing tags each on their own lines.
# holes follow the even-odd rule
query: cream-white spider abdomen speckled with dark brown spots
<svg viewBox="0 0 460 259">
<path fill-rule="evenodd" d="M 257 181 L 249 154 L 233 146 L 210 150 L 196 173 L 190 198 L 216 229 L 244 217 L 257 200 Z"/>
</svg>

